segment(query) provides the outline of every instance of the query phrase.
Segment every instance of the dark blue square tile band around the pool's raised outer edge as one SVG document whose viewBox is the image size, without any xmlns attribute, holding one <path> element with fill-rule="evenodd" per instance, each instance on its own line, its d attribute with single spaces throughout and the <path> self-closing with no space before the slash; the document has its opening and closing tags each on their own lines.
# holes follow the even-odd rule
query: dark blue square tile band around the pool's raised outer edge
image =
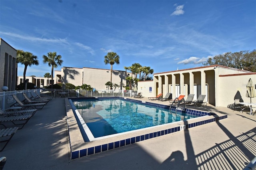
<svg viewBox="0 0 256 170">
<path fill-rule="evenodd" d="M 72 99 L 77 100 L 77 99 L 81 99 L 81 98 L 77 98 L 77 99 L 72 98 Z M 84 99 L 84 98 L 82 98 L 82 99 Z M 126 98 L 123 98 L 123 97 L 98 97 L 98 100 L 102 100 L 102 99 L 126 99 Z M 163 108 L 163 109 L 166 109 L 166 108 L 169 109 L 170 108 L 170 106 L 168 106 L 168 105 L 137 101 L 137 100 L 134 100 L 134 99 L 126 99 L 126 100 L 127 101 L 133 101 L 133 102 L 136 102 L 136 103 L 139 103 L 139 104 L 142 104 L 142 105 L 143 104 L 152 105 L 152 106 L 160 107 L 160 108 Z M 175 107 L 172 108 L 172 109 L 175 109 Z M 115 141 L 115 142 L 110 142 L 110 143 L 106 143 L 106 144 L 102 144 L 102 145 L 98 145 L 98 146 L 93 146 L 93 147 L 90 147 L 90 148 L 84 148 L 84 149 L 81 149 L 81 150 L 72 151 L 72 148 L 70 146 L 70 148 L 71 148 L 71 160 L 77 159 L 77 158 L 82 158 L 84 156 L 89 156 L 89 155 L 92 155 L 92 154 L 97 154 L 97 153 L 104 152 L 104 151 L 107 151 L 107 150 L 112 150 L 114 148 L 119 148 L 119 147 L 122 147 L 122 146 L 126 146 L 126 145 L 129 145 L 129 144 L 140 142 L 140 141 L 143 141 L 143 140 L 148 140 L 150 138 L 155 138 L 155 137 L 163 136 L 163 135 L 170 134 L 170 133 L 173 133 L 173 132 L 178 132 L 180 130 L 184 130 L 184 129 L 188 129 L 188 128 L 192 128 L 192 127 L 197 127 L 197 126 L 204 125 L 204 124 L 207 124 L 207 123 L 212 123 L 212 122 L 215 122 L 215 121 L 226 119 L 228 117 L 227 115 L 217 117 L 217 115 L 214 114 L 214 113 L 199 111 L 199 110 L 194 110 L 194 109 L 185 109 L 185 111 L 184 111 L 184 109 L 181 108 L 180 110 L 177 110 L 177 111 L 180 111 L 180 112 L 187 111 L 187 113 L 189 113 L 190 115 L 198 115 L 198 116 L 214 115 L 215 117 L 214 118 L 209 117 L 209 119 L 207 119 L 207 120 L 198 121 L 198 122 L 194 122 L 194 123 L 188 123 L 188 124 L 184 125 L 183 129 L 180 129 L 181 127 L 177 126 L 177 127 L 157 131 L 157 132 L 151 132 L 149 134 L 143 134 L 143 135 L 140 135 L 140 136 L 134 136 L 134 137 L 131 137 L 131 138 L 126 138 L 126 139 L 118 140 L 118 141 Z"/>
</svg>

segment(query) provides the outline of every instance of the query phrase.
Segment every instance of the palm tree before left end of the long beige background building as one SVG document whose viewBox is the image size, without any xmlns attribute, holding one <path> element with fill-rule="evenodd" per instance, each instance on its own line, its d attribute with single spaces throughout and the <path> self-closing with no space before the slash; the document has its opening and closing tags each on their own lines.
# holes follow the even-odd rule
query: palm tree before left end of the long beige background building
<svg viewBox="0 0 256 170">
<path fill-rule="evenodd" d="M 43 55 L 43 63 L 48 63 L 49 67 L 52 66 L 52 87 L 53 88 L 53 68 L 61 66 L 63 60 L 61 60 L 61 55 L 57 55 L 56 52 L 48 52 L 47 56 Z"/>
</svg>

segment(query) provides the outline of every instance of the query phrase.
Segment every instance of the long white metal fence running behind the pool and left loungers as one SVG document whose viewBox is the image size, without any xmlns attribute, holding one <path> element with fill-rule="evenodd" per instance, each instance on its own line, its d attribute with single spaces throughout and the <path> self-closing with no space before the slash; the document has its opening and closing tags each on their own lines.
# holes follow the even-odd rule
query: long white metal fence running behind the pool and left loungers
<svg viewBox="0 0 256 170">
<path fill-rule="evenodd" d="M 46 89 L 40 91 L 40 89 L 30 89 L 21 91 L 6 91 L 0 92 L 0 109 L 7 110 L 12 105 L 16 103 L 12 95 L 16 95 L 20 101 L 24 101 L 25 97 L 22 93 L 31 98 L 36 96 L 36 93 L 40 94 L 42 97 L 132 97 L 134 96 L 134 91 L 124 91 L 124 90 L 109 90 L 109 91 L 86 91 L 86 90 L 74 90 L 74 89 Z"/>
</svg>

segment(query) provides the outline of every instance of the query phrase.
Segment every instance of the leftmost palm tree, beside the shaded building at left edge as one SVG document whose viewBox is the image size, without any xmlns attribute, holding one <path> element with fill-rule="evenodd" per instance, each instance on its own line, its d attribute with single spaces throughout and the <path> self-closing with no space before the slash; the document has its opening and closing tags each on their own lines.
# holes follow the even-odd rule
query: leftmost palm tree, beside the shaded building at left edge
<svg viewBox="0 0 256 170">
<path fill-rule="evenodd" d="M 26 71 L 28 66 L 31 67 L 32 65 L 38 65 L 39 61 L 37 59 L 36 55 L 33 55 L 32 53 L 23 50 L 17 50 L 17 63 L 23 64 L 24 72 L 23 72 L 23 83 L 24 83 L 24 89 L 27 89 L 27 82 L 26 82 Z"/>
</svg>

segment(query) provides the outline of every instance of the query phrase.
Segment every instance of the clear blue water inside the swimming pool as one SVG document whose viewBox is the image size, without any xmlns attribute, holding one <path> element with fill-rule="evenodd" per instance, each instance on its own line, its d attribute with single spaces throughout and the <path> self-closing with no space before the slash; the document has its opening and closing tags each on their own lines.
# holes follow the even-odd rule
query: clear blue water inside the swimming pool
<svg viewBox="0 0 256 170">
<path fill-rule="evenodd" d="M 121 99 L 73 101 L 94 138 L 184 121 L 190 115 Z"/>
</svg>

